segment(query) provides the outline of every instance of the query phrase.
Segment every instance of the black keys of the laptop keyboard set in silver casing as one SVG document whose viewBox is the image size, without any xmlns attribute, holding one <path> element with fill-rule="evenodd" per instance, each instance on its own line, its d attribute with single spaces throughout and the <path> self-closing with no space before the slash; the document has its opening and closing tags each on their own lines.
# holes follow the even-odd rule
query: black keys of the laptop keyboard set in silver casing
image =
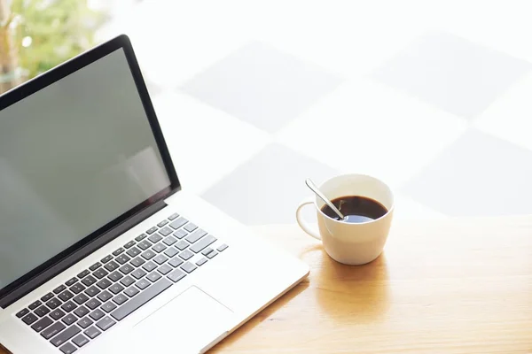
<svg viewBox="0 0 532 354">
<path fill-rule="evenodd" d="M 227 247 L 175 213 L 16 316 L 73 353 Z"/>
</svg>

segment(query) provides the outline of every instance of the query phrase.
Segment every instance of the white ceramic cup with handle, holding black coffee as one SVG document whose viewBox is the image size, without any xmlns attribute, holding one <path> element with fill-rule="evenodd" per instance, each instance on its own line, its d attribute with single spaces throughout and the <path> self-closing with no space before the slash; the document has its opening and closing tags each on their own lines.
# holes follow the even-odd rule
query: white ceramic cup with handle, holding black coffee
<svg viewBox="0 0 532 354">
<path fill-rule="evenodd" d="M 340 196 L 372 198 L 385 206 L 387 213 L 364 223 L 347 223 L 325 215 L 321 211 L 325 202 L 318 196 L 309 197 L 296 211 L 297 222 L 303 231 L 321 240 L 327 254 L 340 263 L 364 265 L 378 258 L 394 216 L 394 195 L 386 183 L 364 174 L 343 174 L 325 181 L 319 189 L 329 200 Z M 301 210 L 307 204 L 314 204 L 316 208 L 319 233 L 301 217 Z"/>
</svg>

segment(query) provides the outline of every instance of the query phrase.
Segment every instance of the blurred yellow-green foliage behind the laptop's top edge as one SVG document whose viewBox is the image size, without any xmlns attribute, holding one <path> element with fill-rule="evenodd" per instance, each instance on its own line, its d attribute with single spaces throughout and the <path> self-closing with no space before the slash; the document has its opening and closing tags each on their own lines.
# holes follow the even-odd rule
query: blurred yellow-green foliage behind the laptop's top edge
<svg viewBox="0 0 532 354">
<path fill-rule="evenodd" d="M 90 49 L 106 20 L 87 0 L 12 0 L 12 13 L 20 16 L 19 63 L 27 79 Z"/>
</svg>

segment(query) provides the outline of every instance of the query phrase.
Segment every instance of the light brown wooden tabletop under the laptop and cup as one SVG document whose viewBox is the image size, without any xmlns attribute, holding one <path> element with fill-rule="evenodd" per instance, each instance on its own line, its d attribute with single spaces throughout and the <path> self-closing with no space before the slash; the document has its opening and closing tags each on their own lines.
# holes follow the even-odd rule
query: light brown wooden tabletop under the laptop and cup
<svg viewBox="0 0 532 354">
<path fill-rule="evenodd" d="M 532 353 L 532 217 L 397 220 L 365 266 L 295 225 L 257 230 L 309 279 L 213 353 Z"/>
</svg>

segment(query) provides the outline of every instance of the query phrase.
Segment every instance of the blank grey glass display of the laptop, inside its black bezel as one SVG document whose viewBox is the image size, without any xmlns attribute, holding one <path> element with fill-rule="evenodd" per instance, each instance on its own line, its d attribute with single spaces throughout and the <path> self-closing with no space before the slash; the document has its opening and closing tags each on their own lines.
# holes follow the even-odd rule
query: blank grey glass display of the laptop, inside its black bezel
<svg viewBox="0 0 532 354">
<path fill-rule="evenodd" d="M 0 290 L 169 186 L 123 49 L 4 108 Z"/>
</svg>

